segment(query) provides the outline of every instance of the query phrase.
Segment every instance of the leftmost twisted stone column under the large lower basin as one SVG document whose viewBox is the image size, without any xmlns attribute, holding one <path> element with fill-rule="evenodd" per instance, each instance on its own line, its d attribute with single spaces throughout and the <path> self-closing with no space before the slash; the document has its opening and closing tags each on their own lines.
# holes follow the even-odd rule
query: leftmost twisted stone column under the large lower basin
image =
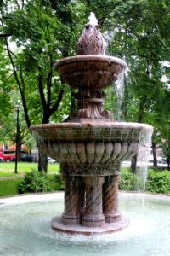
<svg viewBox="0 0 170 256">
<path fill-rule="evenodd" d="M 62 174 L 65 184 L 65 212 L 63 224 L 80 224 L 81 218 L 81 181 L 79 177 Z"/>
</svg>

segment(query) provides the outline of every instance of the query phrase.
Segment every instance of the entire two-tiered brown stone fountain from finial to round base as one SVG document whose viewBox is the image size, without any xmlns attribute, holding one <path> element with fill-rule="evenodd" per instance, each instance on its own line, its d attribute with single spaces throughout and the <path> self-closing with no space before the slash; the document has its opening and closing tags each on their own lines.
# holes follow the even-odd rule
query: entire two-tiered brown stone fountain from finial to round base
<svg viewBox="0 0 170 256">
<path fill-rule="evenodd" d="M 110 233 L 127 227 L 118 209 L 122 160 L 138 153 L 150 125 L 112 120 L 102 108 L 104 88 L 116 82 L 125 61 L 106 56 L 105 41 L 93 22 L 84 26 L 78 55 L 55 63 L 65 83 L 77 89 L 77 111 L 66 123 L 33 125 L 42 150 L 59 161 L 65 184 L 65 211 L 52 219 L 56 231 Z"/>
</svg>

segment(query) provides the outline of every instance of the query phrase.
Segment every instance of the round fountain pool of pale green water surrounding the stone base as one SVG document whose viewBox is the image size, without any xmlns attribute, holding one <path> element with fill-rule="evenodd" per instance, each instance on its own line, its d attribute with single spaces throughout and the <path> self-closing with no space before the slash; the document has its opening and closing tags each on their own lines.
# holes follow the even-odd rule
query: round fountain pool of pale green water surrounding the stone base
<svg viewBox="0 0 170 256">
<path fill-rule="evenodd" d="M 64 194 L 0 199 L 0 255 L 169 256 L 170 197 L 119 194 L 127 229 L 103 235 L 71 236 L 50 228 L 64 209 Z"/>
</svg>

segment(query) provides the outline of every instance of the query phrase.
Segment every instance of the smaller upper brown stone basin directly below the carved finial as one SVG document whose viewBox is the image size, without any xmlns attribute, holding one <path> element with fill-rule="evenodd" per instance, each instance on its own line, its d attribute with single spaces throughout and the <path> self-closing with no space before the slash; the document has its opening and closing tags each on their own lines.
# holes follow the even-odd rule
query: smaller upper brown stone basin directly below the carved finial
<svg viewBox="0 0 170 256">
<path fill-rule="evenodd" d="M 125 61 L 106 55 L 76 55 L 57 61 L 54 68 L 74 88 L 101 89 L 111 85 L 127 67 Z"/>
</svg>

